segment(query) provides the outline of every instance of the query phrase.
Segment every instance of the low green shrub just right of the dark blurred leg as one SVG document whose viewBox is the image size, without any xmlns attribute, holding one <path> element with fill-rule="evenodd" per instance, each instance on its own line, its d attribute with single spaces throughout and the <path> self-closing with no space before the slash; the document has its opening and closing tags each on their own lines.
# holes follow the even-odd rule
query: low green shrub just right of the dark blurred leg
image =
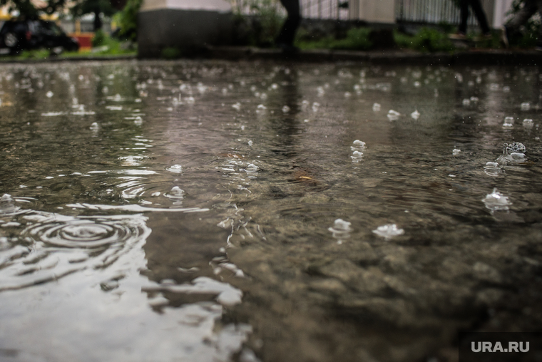
<svg viewBox="0 0 542 362">
<path fill-rule="evenodd" d="M 326 36 L 319 40 L 307 41 L 306 34 L 300 32 L 296 38 L 295 45 L 301 49 L 337 49 L 337 50 L 356 50 L 366 51 L 372 47 L 372 41 L 369 36 L 369 28 L 353 28 L 347 32 L 346 38 L 336 39 L 333 36 Z"/>
</svg>

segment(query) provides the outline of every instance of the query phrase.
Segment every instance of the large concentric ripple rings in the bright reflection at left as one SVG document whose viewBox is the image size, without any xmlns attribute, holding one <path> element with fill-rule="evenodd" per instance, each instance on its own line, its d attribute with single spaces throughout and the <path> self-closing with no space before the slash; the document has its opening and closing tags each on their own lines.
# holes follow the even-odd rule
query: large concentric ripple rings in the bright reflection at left
<svg viewBox="0 0 542 362">
<path fill-rule="evenodd" d="M 53 281 L 115 263 L 150 234 L 142 214 L 72 217 L 29 212 L 16 238 L 3 238 L 0 291 Z"/>
</svg>

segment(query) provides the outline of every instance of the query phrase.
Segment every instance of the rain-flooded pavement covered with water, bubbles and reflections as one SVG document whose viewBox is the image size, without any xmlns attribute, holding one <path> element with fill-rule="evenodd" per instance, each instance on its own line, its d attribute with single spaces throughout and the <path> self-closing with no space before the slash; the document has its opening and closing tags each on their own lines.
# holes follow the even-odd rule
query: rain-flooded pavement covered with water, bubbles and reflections
<svg viewBox="0 0 542 362">
<path fill-rule="evenodd" d="M 538 331 L 538 68 L 0 68 L 0 361 L 454 361 Z"/>
</svg>

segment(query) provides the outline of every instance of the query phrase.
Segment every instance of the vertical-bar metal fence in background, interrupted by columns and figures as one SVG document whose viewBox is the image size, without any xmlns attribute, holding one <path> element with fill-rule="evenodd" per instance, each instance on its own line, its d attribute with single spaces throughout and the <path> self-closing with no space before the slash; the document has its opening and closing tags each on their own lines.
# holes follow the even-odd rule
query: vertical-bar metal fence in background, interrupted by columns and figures
<svg viewBox="0 0 542 362">
<path fill-rule="evenodd" d="M 374 0 L 361 0 L 374 1 Z M 274 6 L 281 14 L 285 10 L 275 0 L 232 0 L 232 6 L 241 14 L 257 14 L 252 5 Z M 352 16 L 347 6 L 348 0 L 300 0 L 301 14 L 305 19 L 362 20 Z M 397 22 L 415 24 L 459 24 L 459 8 L 453 0 L 395 0 L 395 19 Z M 469 15 L 469 26 L 475 26 L 476 19 Z"/>
</svg>

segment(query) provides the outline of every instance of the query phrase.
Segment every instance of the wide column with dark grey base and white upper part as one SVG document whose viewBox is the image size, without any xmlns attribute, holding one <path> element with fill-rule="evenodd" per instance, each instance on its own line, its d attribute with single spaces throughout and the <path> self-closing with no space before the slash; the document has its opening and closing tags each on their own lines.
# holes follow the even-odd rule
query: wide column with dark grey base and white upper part
<svg viewBox="0 0 542 362">
<path fill-rule="evenodd" d="M 160 56 L 163 48 L 193 51 L 229 43 L 232 11 L 225 0 L 143 0 L 138 14 L 138 52 Z"/>
</svg>

